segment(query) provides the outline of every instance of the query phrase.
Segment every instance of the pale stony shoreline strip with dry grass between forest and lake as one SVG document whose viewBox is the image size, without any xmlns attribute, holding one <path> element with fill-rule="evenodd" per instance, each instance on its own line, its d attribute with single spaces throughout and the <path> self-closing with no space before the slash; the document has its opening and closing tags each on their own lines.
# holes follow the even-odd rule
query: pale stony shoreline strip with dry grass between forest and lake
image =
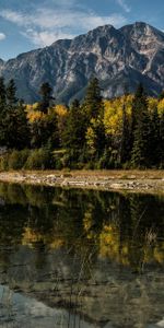
<svg viewBox="0 0 164 328">
<path fill-rule="evenodd" d="M 164 171 L 0 172 L 0 183 L 164 194 Z"/>
</svg>

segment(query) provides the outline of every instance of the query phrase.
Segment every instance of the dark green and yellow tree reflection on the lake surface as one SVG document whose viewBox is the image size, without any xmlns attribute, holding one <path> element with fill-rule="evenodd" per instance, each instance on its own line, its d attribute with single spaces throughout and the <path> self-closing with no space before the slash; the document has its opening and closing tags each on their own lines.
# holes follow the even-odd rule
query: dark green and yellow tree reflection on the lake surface
<svg viewBox="0 0 164 328">
<path fill-rule="evenodd" d="M 4 246 L 19 245 L 36 250 L 37 266 L 61 248 L 90 266 L 101 256 L 139 273 L 164 262 L 157 196 L 0 184 L 0 198 L 1 262 Z"/>
</svg>

